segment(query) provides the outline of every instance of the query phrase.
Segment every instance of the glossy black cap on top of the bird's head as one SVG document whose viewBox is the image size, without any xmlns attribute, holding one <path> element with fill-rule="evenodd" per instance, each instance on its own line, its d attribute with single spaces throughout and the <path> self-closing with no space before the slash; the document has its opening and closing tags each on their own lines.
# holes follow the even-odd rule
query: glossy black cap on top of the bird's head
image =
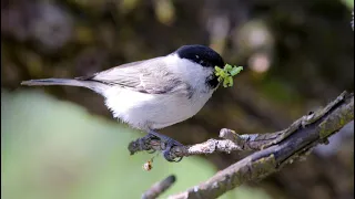
<svg viewBox="0 0 355 199">
<path fill-rule="evenodd" d="M 205 67 L 224 66 L 222 56 L 204 45 L 183 45 L 176 53 L 181 59 L 187 59 Z"/>
</svg>

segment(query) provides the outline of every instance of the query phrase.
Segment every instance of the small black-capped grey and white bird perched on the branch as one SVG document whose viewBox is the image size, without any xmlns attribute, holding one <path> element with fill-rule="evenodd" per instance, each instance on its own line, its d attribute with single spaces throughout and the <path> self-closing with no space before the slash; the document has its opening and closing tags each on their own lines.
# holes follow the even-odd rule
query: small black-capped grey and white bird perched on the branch
<svg viewBox="0 0 355 199">
<path fill-rule="evenodd" d="M 102 95 L 113 117 L 166 143 L 163 155 L 179 142 L 156 133 L 194 116 L 219 87 L 214 67 L 219 53 L 204 45 L 183 45 L 151 60 L 122 64 L 89 76 L 23 81 L 22 85 L 87 87 Z"/>
</svg>

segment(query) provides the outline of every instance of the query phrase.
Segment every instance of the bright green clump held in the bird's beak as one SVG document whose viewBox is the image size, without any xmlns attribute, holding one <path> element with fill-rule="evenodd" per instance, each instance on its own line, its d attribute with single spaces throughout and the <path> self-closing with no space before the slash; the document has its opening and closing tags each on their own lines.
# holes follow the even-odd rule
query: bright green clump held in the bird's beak
<svg viewBox="0 0 355 199">
<path fill-rule="evenodd" d="M 225 64 L 223 69 L 215 66 L 215 75 L 219 77 L 219 82 L 223 82 L 223 87 L 233 86 L 233 76 L 239 74 L 243 66 L 232 66 L 230 64 Z"/>
</svg>

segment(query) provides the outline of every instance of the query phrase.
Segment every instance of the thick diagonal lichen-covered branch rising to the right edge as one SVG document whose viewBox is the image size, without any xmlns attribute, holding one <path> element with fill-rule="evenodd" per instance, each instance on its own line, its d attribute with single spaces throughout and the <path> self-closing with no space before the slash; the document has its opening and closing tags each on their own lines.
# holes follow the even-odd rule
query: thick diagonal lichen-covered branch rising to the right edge
<svg viewBox="0 0 355 199">
<path fill-rule="evenodd" d="M 262 179 L 281 169 L 286 163 L 304 157 L 314 146 L 326 143 L 327 137 L 354 119 L 354 95 L 343 93 L 317 113 L 322 113 L 322 116 L 305 126 L 298 126 L 280 143 L 245 157 L 219 171 L 207 181 L 170 198 L 217 198 L 246 181 Z"/>
</svg>

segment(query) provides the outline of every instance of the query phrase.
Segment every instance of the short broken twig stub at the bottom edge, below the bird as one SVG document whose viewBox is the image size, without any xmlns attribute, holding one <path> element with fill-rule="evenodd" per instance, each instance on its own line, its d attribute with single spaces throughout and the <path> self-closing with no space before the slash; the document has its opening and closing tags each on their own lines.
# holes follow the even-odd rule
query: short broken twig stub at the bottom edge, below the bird
<svg viewBox="0 0 355 199">
<path fill-rule="evenodd" d="M 171 175 L 162 181 L 154 184 L 149 190 L 143 193 L 142 199 L 154 199 L 159 197 L 166 189 L 169 189 L 175 182 L 175 176 Z"/>
</svg>

